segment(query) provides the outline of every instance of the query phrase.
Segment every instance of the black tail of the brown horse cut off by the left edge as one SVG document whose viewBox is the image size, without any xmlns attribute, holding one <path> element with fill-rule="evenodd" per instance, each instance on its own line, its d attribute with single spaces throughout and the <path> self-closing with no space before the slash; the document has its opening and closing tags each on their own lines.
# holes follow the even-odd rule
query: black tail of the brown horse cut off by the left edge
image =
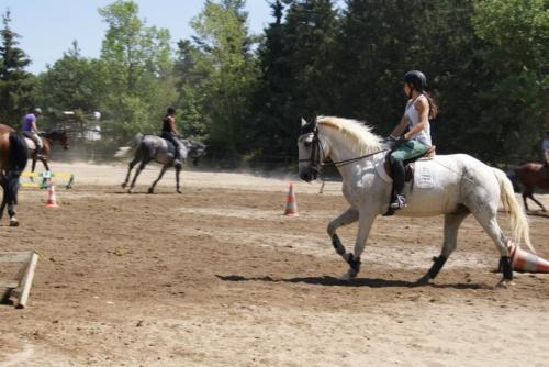
<svg viewBox="0 0 549 367">
<path fill-rule="evenodd" d="M 29 148 L 25 140 L 19 134 L 10 133 L 10 159 L 7 169 L 7 180 L 4 184 L 5 202 L 18 203 L 19 177 L 26 167 L 29 160 Z"/>
</svg>

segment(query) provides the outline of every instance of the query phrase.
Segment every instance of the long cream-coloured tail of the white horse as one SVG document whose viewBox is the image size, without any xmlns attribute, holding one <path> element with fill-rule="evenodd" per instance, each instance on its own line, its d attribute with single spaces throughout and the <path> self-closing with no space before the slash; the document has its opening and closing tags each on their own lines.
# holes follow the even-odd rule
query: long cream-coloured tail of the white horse
<svg viewBox="0 0 549 367">
<path fill-rule="evenodd" d="M 506 210 L 508 210 L 511 214 L 511 227 L 513 229 L 514 241 L 519 244 L 520 238 L 524 238 L 524 242 L 528 246 L 531 252 L 536 252 L 530 242 L 530 229 L 528 225 L 528 219 L 524 213 L 523 209 L 518 204 L 518 201 L 515 198 L 515 192 L 513 191 L 513 184 L 507 178 L 505 173 L 501 169 L 493 168 L 495 177 L 500 182 L 500 194 L 501 200 Z"/>
</svg>

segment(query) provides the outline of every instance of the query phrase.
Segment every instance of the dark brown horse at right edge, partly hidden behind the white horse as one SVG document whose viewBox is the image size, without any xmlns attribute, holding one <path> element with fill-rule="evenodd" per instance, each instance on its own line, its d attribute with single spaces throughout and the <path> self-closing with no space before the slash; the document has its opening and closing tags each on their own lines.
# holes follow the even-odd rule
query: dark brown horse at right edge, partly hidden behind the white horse
<svg viewBox="0 0 549 367">
<path fill-rule="evenodd" d="M 531 199 L 537 203 L 541 211 L 546 212 L 546 208 L 541 202 L 534 199 L 534 189 L 549 189 L 549 165 L 540 165 L 538 163 L 527 163 L 520 167 L 512 169 L 507 176 L 512 181 L 523 185 L 524 208 L 529 211 L 526 199 Z"/>
</svg>

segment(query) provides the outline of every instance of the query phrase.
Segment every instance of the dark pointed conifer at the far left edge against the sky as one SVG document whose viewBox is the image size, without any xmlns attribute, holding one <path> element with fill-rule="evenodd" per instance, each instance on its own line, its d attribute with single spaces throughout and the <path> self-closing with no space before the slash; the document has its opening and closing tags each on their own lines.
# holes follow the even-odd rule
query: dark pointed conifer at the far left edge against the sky
<svg viewBox="0 0 549 367">
<path fill-rule="evenodd" d="M 10 12 L 2 15 L 0 30 L 0 123 L 18 126 L 22 115 L 33 107 L 33 75 L 25 71 L 31 64 L 18 47 L 19 35 L 10 29 Z"/>
</svg>

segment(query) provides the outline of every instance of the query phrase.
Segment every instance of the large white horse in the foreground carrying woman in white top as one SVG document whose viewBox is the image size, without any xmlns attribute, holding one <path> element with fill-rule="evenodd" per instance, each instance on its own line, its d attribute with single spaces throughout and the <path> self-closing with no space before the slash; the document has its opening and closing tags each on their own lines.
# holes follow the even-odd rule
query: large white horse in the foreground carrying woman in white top
<svg viewBox="0 0 549 367">
<path fill-rule="evenodd" d="M 343 177 L 343 193 L 349 208 L 334 219 L 327 227 L 337 254 L 348 264 L 341 277 L 350 280 L 360 270 L 360 255 L 374 219 L 385 213 L 392 192 L 392 179 L 385 174 L 383 163 L 388 147 L 370 127 L 354 120 L 318 118 L 312 123 L 302 120 L 298 140 L 300 178 L 310 182 L 318 176 L 324 160 L 330 158 Z M 513 240 L 518 244 L 524 238 L 534 251 L 529 240 L 526 215 L 518 207 L 513 186 L 505 174 L 475 158 L 464 155 L 440 155 L 415 163 L 415 175 L 406 184 L 407 208 L 397 215 L 445 215 L 444 244 L 438 257 L 425 276 L 417 280 L 427 283 L 442 268 L 456 249 L 458 229 L 463 220 L 473 214 L 495 243 L 500 254 L 503 281 L 513 279 L 507 238 L 497 224 L 500 201 L 509 211 Z M 355 251 L 347 253 L 336 230 L 358 221 Z"/>
</svg>

